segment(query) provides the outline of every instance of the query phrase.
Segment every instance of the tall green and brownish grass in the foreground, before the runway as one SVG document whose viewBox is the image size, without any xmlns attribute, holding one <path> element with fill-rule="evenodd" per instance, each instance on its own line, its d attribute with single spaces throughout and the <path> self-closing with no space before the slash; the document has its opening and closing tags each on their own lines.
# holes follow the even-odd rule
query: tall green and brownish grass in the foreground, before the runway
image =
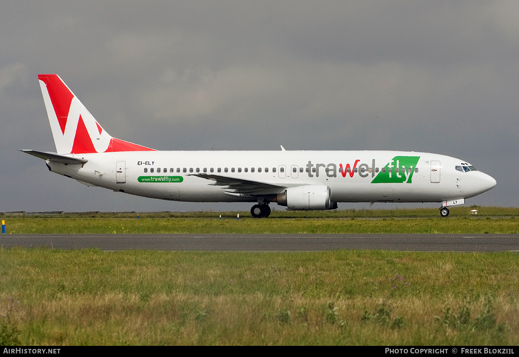
<svg viewBox="0 0 519 357">
<path fill-rule="evenodd" d="M 0 249 L 0 342 L 517 345 L 515 253 Z"/>
</svg>

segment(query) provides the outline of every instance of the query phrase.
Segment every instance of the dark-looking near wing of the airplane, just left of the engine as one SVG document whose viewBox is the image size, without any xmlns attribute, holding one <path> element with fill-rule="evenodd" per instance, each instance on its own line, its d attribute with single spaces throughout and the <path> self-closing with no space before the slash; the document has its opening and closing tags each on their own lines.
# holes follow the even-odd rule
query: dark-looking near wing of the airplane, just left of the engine
<svg viewBox="0 0 519 357">
<path fill-rule="evenodd" d="M 214 175 L 209 173 L 196 173 L 190 174 L 189 176 L 197 176 L 201 177 L 202 179 L 214 181 L 213 185 L 215 186 L 227 186 L 222 188 L 224 188 L 226 193 L 229 194 L 250 194 L 263 196 L 269 195 L 268 192 L 271 194 L 277 194 L 284 188 L 289 187 L 285 185 L 270 184 L 262 181 L 243 180 L 237 179 L 236 177 Z"/>
</svg>

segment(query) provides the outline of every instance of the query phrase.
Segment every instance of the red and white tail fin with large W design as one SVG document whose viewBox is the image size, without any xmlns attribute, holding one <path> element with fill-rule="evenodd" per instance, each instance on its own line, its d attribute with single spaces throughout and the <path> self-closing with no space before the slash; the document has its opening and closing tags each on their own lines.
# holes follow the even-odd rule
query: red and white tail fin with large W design
<svg viewBox="0 0 519 357">
<path fill-rule="evenodd" d="M 57 74 L 38 79 L 58 154 L 153 150 L 112 138 Z"/>
</svg>

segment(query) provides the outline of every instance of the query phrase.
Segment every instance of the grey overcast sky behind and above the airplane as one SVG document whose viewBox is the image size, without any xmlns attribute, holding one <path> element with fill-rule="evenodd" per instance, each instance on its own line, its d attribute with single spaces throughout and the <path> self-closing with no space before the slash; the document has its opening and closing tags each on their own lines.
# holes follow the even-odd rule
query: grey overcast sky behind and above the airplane
<svg viewBox="0 0 519 357">
<path fill-rule="evenodd" d="M 130 142 L 432 152 L 497 180 L 467 205 L 518 205 L 517 1 L 2 1 L 0 33 L 0 211 L 250 208 L 49 172 L 18 151 L 56 151 L 39 73 Z"/>
</svg>

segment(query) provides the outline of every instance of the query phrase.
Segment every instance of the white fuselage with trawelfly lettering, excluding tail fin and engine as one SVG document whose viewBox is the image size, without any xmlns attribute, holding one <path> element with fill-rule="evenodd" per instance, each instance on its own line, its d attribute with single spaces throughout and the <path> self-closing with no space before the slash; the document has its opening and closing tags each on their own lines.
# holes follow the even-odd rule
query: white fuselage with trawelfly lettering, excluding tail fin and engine
<svg viewBox="0 0 519 357">
<path fill-rule="evenodd" d="M 51 171 L 87 185 L 176 201 L 255 202 L 290 187 L 324 185 L 330 187 L 332 202 L 445 202 L 447 206 L 496 185 L 483 172 L 456 169 L 470 166 L 465 161 L 418 152 L 146 151 L 68 156 L 88 162 L 47 161 Z M 229 184 L 233 179 L 241 184 Z M 251 190 L 248 182 L 272 187 Z"/>
</svg>

